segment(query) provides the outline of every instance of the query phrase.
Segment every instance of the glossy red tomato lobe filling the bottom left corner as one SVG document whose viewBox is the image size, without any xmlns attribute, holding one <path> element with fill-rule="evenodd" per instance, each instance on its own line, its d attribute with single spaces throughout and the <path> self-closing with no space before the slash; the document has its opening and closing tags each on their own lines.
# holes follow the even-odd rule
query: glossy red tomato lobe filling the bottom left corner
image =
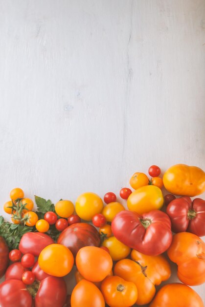
<svg viewBox="0 0 205 307">
<path fill-rule="evenodd" d="M 18 303 L 18 305 L 17 305 Z M 0 284 L 0 307 L 32 307 L 32 296 L 23 281 L 7 280 Z"/>
</svg>

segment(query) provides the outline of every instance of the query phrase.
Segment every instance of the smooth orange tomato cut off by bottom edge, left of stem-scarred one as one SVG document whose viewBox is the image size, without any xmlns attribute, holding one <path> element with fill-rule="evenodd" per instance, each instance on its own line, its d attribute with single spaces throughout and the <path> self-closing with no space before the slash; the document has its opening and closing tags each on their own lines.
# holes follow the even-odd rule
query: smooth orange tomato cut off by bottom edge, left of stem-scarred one
<svg viewBox="0 0 205 307">
<path fill-rule="evenodd" d="M 79 281 L 71 294 L 72 307 L 105 307 L 102 293 L 90 281 Z"/>
</svg>

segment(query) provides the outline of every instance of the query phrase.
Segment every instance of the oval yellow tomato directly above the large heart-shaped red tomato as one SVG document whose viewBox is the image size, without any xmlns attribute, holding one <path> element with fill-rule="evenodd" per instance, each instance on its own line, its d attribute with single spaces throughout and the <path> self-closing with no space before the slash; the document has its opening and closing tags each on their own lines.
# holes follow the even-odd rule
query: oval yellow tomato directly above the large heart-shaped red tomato
<svg viewBox="0 0 205 307">
<path fill-rule="evenodd" d="M 160 209 L 164 199 L 161 190 L 155 185 L 146 185 L 134 191 L 127 200 L 128 209 L 138 214 Z"/>
</svg>

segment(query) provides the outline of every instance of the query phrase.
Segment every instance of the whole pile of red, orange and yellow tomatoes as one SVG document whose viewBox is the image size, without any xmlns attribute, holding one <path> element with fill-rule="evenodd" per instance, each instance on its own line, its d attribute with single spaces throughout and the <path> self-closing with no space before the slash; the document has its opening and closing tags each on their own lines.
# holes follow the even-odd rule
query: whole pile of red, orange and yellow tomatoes
<svg viewBox="0 0 205 307">
<path fill-rule="evenodd" d="M 205 173 L 178 164 L 163 178 L 156 165 L 148 174 L 150 179 L 135 173 L 132 190 L 120 190 L 128 209 L 113 192 L 104 195 L 106 205 L 87 192 L 75 206 L 69 200 L 46 203 L 50 210 L 42 216 L 32 211 L 33 202 L 22 189 L 13 189 L 5 212 L 13 223 L 35 229 L 24 233 L 19 248 L 9 254 L 0 237 L 1 259 L 10 260 L 0 284 L 0 306 L 204 307 L 189 286 L 205 282 L 205 242 L 200 238 L 205 235 L 205 201 L 190 198 L 205 191 Z M 56 240 L 50 235 L 53 228 Z M 156 294 L 156 286 L 171 276 L 170 260 L 182 283 L 166 284 Z M 71 272 L 76 281 L 72 291 L 64 279 Z"/>
</svg>

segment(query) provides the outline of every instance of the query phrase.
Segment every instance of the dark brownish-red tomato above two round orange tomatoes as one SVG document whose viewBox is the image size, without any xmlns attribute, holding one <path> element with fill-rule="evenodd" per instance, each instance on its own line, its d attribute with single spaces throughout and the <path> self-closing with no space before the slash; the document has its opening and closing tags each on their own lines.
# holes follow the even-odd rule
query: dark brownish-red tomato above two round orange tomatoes
<svg viewBox="0 0 205 307">
<path fill-rule="evenodd" d="M 100 235 L 94 226 L 76 223 L 68 226 L 58 238 L 58 243 L 68 247 L 75 257 L 84 246 L 100 246 Z"/>
</svg>

